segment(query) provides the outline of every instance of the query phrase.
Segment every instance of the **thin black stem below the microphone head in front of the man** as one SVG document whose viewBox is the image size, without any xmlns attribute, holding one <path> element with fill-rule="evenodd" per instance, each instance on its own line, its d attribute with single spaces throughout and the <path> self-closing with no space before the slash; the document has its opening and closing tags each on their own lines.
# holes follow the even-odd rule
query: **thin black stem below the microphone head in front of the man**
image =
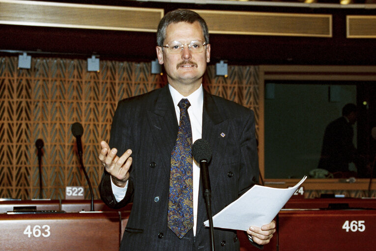
<svg viewBox="0 0 376 251">
<path fill-rule="evenodd" d="M 206 160 L 200 161 L 200 164 L 201 164 L 201 168 L 200 168 L 201 177 L 208 177 L 207 179 L 202 178 L 202 188 L 203 188 L 203 197 L 205 198 L 205 202 L 206 202 L 207 217 L 209 218 L 209 235 L 210 235 L 210 242 L 211 242 L 211 250 L 215 251 L 213 215 L 211 212 L 211 188 L 210 188 L 210 182 L 209 182 L 209 170 L 207 168 Z"/>
</svg>

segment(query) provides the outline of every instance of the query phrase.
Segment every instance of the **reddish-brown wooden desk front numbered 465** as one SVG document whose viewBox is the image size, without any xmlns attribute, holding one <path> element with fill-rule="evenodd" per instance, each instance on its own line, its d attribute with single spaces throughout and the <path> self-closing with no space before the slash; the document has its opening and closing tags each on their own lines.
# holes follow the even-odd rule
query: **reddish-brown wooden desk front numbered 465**
<svg viewBox="0 0 376 251">
<path fill-rule="evenodd" d="M 302 210 L 278 214 L 279 251 L 375 250 L 376 210 Z"/>
</svg>

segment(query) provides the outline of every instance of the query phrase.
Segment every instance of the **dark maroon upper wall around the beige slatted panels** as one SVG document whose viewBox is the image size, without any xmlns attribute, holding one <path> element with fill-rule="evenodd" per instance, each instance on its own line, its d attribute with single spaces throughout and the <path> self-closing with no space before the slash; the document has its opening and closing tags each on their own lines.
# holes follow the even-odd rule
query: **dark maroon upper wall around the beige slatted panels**
<svg viewBox="0 0 376 251">
<path fill-rule="evenodd" d="M 219 1 L 215 4 L 208 4 L 209 1 L 206 4 L 119 0 L 64 2 L 164 8 L 165 13 L 176 8 L 329 13 L 333 15 L 331 38 L 211 34 L 211 63 L 224 59 L 230 64 L 247 65 L 376 65 L 375 39 L 346 38 L 346 15 L 375 15 L 375 9 L 341 8 L 339 4 L 328 5 L 339 6 L 336 8 L 218 4 Z M 150 32 L 0 25 L 0 55 L 20 51 L 48 57 L 87 58 L 96 54 L 101 59 L 128 61 L 150 61 L 156 57 L 155 34 Z"/>
</svg>

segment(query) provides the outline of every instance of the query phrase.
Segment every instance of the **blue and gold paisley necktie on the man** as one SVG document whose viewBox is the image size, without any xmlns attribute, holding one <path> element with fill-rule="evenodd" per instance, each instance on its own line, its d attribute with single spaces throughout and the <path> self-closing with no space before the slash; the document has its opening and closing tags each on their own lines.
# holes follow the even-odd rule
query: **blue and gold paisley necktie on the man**
<svg viewBox="0 0 376 251">
<path fill-rule="evenodd" d="M 167 223 L 180 239 L 193 227 L 193 158 L 192 128 L 187 99 L 177 104 L 180 108 L 179 130 L 171 153 L 170 195 Z"/>
</svg>

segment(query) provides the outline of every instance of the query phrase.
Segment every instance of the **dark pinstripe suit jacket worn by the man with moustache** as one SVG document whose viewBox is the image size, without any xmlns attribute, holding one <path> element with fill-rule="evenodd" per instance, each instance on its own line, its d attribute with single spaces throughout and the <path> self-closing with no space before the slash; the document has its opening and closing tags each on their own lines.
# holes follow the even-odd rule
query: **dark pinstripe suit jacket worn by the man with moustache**
<svg viewBox="0 0 376 251">
<path fill-rule="evenodd" d="M 121 251 L 210 250 L 209 230 L 203 226 L 207 214 L 201 182 L 196 237 L 191 230 L 180 240 L 167 226 L 170 158 L 177 130 L 167 85 L 118 103 L 109 145 L 117 148 L 119 154 L 127 149 L 133 151 L 128 190 L 125 198 L 116 202 L 110 175 L 105 172 L 99 191 L 102 200 L 113 208 L 133 202 Z M 253 111 L 204 92 L 202 138 L 213 151 L 208 168 L 215 215 L 258 180 Z M 214 239 L 217 251 L 239 250 L 236 231 L 215 229 Z"/>
</svg>

